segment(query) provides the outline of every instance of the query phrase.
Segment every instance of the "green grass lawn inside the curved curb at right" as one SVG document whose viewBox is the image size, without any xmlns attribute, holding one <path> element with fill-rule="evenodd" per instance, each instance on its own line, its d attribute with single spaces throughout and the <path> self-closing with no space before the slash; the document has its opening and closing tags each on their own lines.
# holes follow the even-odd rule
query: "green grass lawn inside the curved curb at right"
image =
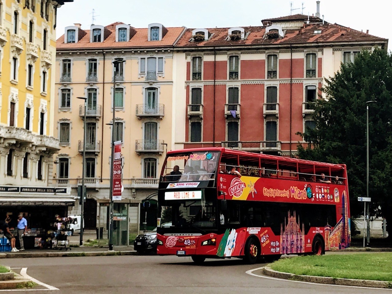
<svg viewBox="0 0 392 294">
<path fill-rule="evenodd" d="M 392 252 L 281 258 L 271 268 L 297 275 L 392 282 Z"/>
</svg>

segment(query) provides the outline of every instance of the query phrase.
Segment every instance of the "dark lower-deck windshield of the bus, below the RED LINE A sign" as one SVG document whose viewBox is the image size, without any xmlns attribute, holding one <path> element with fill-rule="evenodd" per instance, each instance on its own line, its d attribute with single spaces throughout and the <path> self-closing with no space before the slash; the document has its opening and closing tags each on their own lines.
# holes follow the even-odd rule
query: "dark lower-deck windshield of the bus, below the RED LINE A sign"
<svg viewBox="0 0 392 294">
<path fill-rule="evenodd" d="M 165 195 L 165 198 L 171 197 Z M 205 197 L 203 193 L 200 198 L 165 200 L 161 206 L 161 223 L 171 222 L 176 228 L 216 228 L 216 197 Z"/>
</svg>

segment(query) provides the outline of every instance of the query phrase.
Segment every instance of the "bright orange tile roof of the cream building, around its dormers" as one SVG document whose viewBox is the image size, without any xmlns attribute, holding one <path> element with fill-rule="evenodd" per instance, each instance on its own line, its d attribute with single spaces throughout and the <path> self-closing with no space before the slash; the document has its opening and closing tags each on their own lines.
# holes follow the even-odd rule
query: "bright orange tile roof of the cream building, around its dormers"
<svg viewBox="0 0 392 294">
<path fill-rule="evenodd" d="M 109 35 L 103 42 L 90 43 L 90 30 L 84 30 L 85 35 L 77 43 L 64 43 L 64 35 L 56 41 L 57 49 L 95 49 L 95 48 L 129 48 L 129 47 L 171 47 L 181 35 L 185 27 L 167 27 L 167 33 L 161 41 L 147 41 L 148 28 L 136 29 L 129 42 L 116 42 L 116 25 L 123 22 L 114 22 L 105 26 Z M 105 33 L 106 34 L 106 33 Z"/>
</svg>

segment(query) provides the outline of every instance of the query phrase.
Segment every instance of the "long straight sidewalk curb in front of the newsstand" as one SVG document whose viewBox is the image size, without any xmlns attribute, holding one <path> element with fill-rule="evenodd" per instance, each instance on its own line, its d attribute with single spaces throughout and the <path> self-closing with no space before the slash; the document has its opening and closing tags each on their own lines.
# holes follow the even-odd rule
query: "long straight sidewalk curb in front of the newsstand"
<svg viewBox="0 0 392 294">
<path fill-rule="evenodd" d="M 32 258 L 32 257 L 79 257 L 79 256 L 116 256 L 137 255 L 134 250 L 130 251 L 91 251 L 91 252 L 34 252 L 34 253 L 0 253 L 1 258 Z"/>
</svg>

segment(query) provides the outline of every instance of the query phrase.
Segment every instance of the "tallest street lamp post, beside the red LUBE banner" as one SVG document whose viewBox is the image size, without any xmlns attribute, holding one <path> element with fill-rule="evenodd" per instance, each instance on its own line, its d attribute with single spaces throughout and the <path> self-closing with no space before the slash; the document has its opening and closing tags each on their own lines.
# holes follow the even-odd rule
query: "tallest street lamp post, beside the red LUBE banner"
<svg viewBox="0 0 392 294">
<path fill-rule="evenodd" d="M 113 160 L 114 160 L 114 123 L 116 119 L 116 66 L 124 63 L 123 58 L 114 58 L 113 63 L 113 121 L 112 121 L 112 150 L 110 157 L 110 183 L 109 183 L 109 210 L 110 210 L 110 223 L 109 223 L 109 250 L 113 250 Z M 120 70 L 120 69 L 119 69 Z"/>
</svg>

